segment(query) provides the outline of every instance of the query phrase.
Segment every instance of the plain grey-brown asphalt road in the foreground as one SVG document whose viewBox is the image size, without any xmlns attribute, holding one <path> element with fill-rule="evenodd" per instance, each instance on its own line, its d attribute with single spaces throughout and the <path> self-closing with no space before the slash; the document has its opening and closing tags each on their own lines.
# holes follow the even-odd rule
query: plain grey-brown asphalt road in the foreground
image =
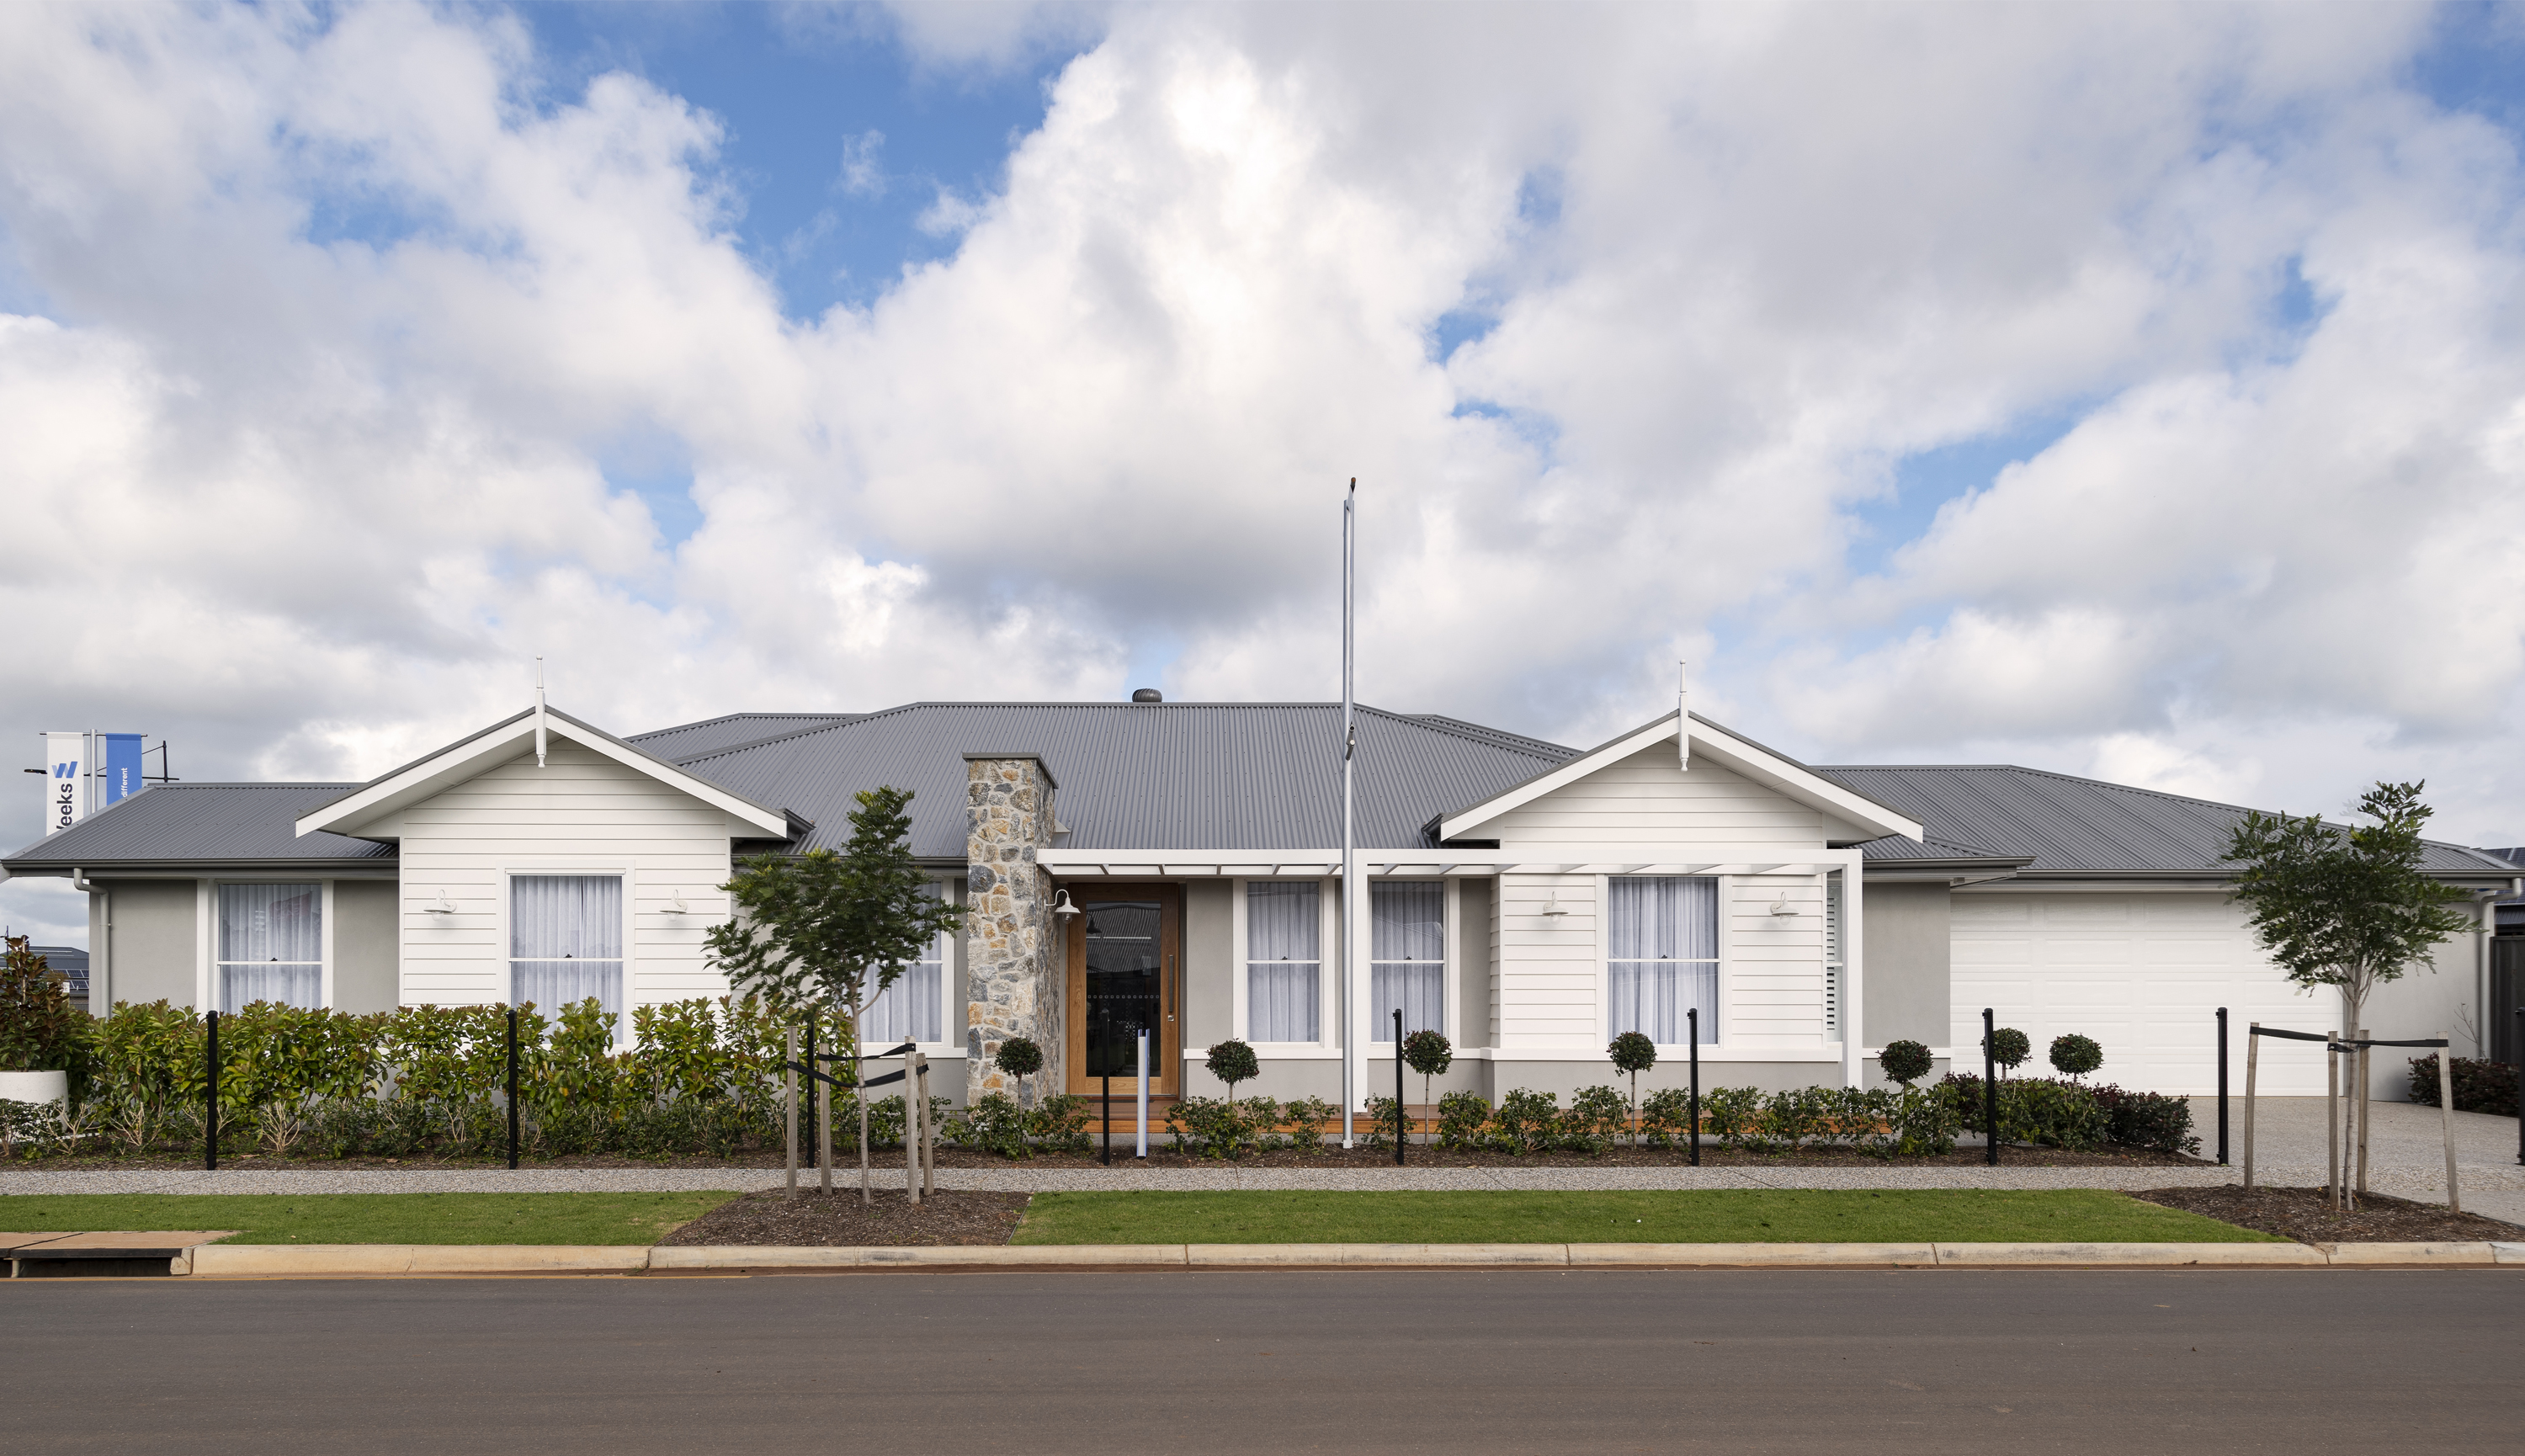
<svg viewBox="0 0 2525 1456">
<path fill-rule="evenodd" d="M 0 1284 L 0 1448 L 2517 1451 L 2525 1269 Z"/>
</svg>

